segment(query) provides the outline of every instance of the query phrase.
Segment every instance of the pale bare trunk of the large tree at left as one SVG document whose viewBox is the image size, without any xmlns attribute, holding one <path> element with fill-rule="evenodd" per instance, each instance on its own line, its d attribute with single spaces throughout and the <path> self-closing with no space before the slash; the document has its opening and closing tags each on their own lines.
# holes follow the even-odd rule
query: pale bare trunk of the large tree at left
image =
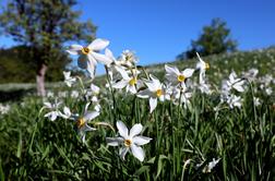
<svg viewBox="0 0 275 181">
<path fill-rule="evenodd" d="M 38 96 L 46 96 L 46 89 L 45 89 L 45 74 L 48 67 L 45 63 L 41 63 L 36 72 L 36 86 L 37 86 L 37 95 Z"/>
</svg>

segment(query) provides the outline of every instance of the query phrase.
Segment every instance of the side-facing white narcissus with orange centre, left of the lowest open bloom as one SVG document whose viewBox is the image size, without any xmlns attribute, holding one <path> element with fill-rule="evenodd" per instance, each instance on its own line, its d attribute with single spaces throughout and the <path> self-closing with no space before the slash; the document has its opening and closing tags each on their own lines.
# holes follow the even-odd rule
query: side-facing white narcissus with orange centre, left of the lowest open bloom
<svg viewBox="0 0 275 181">
<path fill-rule="evenodd" d="M 89 106 L 89 104 L 87 104 L 85 106 L 85 111 L 84 111 L 83 117 L 77 117 L 77 118 L 74 119 L 74 121 L 76 123 L 76 126 L 77 126 L 77 133 L 81 136 L 81 140 L 82 140 L 83 143 L 85 142 L 86 132 L 96 130 L 94 128 L 91 128 L 87 123 L 91 120 L 93 120 L 93 119 L 95 119 L 96 117 L 99 116 L 98 111 L 88 111 L 87 110 L 88 106 Z"/>
</svg>

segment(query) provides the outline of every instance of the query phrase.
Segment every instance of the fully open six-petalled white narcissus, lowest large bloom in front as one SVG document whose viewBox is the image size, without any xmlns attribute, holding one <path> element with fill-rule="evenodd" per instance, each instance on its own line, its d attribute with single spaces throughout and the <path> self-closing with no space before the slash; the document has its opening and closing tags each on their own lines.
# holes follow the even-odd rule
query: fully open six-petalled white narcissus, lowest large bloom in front
<svg viewBox="0 0 275 181">
<path fill-rule="evenodd" d="M 129 132 L 123 122 L 117 121 L 117 128 L 120 136 L 107 137 L 107 144 L 109 146 L 122 146 L 119 149 L 119 155 L 123 160 L 125 154 L 130 150 L 135 158 L 138 158 L 140 161 L 143 161 L 145 153 L 141 145 L 150 143 L 152 138 L 139 135 L 143 129 L 142 124 L 134 124 Z"/>
</svg>

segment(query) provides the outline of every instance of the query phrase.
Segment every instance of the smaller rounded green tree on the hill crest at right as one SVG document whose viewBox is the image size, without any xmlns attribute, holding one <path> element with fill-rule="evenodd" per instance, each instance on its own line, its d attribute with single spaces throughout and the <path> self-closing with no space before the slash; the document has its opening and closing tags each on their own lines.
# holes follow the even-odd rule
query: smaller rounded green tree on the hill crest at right
<svg viewBox="0 0 275 181">
<path fill-rule="evenodd" d="M 213 19 L 211 25 L 203 27 L 198 40 L 191 41 L 191 49 L 178 56 L 178 59 L 193 58 L 195 52 L 201 56 L 235 51 L 237 41 L 231 39 L 226 22 Z"/>
</svg>

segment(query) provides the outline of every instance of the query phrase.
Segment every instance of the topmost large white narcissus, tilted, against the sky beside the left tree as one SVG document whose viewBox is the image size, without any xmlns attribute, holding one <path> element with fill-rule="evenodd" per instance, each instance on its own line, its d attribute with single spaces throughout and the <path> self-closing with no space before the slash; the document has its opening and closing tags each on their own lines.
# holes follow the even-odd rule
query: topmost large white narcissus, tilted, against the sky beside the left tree
<svg viewBox="0 0 275 181">
<path fill-rule="evenodd" d="M 100 62 L 106 65 L 111 63 L 111 60 L 108 57 L 98 53 L 98 51 L 105 49 L 108 45 L 108 40 L 97 38 L 87 47 L 83 47 L 81 45 L 72 45 L 67 51 L 71 55 L 79 55 L 79 67 L 81 69 L 86 69 L 91 73 L 91 76 L 94 77 L 95 67 L 97 62 Z"/>
</svg>

